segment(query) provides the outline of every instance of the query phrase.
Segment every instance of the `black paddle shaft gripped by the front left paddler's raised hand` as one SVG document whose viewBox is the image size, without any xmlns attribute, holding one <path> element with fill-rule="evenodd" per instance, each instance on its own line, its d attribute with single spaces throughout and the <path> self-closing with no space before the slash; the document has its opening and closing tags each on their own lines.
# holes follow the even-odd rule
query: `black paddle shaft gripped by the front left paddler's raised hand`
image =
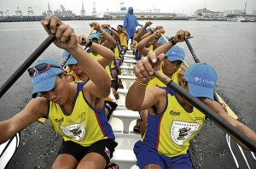
<svg viewBox="0 0 256 169">
<path fill-rule="evenodd" d="M 49 35 L 49 37 L 47 37 L 44 42 L 39 45 L 39 47 L 29 56 L 29 58 L 26 59 L 22 65 L 20 65 L 15 73 L 9 77 L 9 79 L 0 88 L 0 99 L 2 98 L 3 94 L 9 90 L 9 87 L 11 87 L 20 78 L 20 76 L 29 68 L 30 65 L 32 65 L 36 59 L 38 59 L 44 50 L 48 48 L 52 42 L 54 42 L 54 40 L 55 34 Z"/>
</svg>

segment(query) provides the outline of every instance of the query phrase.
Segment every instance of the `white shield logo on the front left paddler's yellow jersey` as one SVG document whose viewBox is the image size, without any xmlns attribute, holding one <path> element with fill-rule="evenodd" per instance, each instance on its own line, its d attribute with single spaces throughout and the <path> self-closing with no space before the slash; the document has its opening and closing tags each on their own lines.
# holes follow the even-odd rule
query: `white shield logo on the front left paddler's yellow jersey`
<svg viewBox="0 0 256 169">
<path fill-rule="evenodd" d="M 82 141 L 85 136 L 85 121 L 79 124 L 72 124 L 67 127 L 61 126 L 61 131 L 69 138 L 74 138 L 76 141 Z"/>
</svg>

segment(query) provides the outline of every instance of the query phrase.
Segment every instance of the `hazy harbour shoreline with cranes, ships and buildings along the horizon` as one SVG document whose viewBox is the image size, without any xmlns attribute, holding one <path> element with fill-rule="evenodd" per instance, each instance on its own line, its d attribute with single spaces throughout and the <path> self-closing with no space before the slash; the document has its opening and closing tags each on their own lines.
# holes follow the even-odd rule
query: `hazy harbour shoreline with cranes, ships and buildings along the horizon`
<svg viewBox="0 0 256 169">
<path fill-rule="evenodd" d="M 93 3 L 92 12 L 85 14 L 84 3 L 80 14 L 74 14 L 73 11 L 65 8 L 62 4 L 60 8 L 53 11 L 48 3 L 48 10 L 42 15 L 35 15 L 32 7 L 28 7 L 27 14 L 22 13 L 22 10 L 17 7 L 15 15 L 9 15 L 9 10 L 0 10 L 0 22 L 22 22 L 22 21 L 40 21 L 43 20 L 46 15 L 54 15 L 61 20 L 124 20 L 125 14 L 127 14 L 127 8 L 125 3 L 120 2 L 120 8 L 118 11 L 108 12 L 96 12 L 96 3 Z M 162 13 L 159 8 L 138 10 L 134 9 L 137 20 L 209 20 L 209 21 L 241 21 L 241 22 L 255 22 L 256 10 L 253 9 L 253 14 L 246 13 L 247 3 L 244 9 L 227 10 L 223 12 L 214 12 L 207 8 L 198 9 L 195 14 L 187 16 L 184 14 L 176 13 Z"/>
</svg>

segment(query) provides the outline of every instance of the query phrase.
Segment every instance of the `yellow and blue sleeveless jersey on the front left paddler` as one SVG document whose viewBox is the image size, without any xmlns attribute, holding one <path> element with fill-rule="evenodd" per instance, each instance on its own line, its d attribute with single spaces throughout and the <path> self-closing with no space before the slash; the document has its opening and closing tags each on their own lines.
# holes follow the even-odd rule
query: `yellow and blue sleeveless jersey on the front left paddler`
<svg viewBox="0 0 256 169">
<path fill-rule="evenodd" d="M 84 147 L 102 139 L 114 140 L 113 130 L 105 115 L 105 106 L 102 110 L 95 110 L 84 98 L 82 89 L 86 82 L 77 84 L 77 95 L 73 101 L 71 115 L 64 115 L 59 104 L 49 101 L 50 125 L 65 141 L 73 141 Z"/>
</svg>

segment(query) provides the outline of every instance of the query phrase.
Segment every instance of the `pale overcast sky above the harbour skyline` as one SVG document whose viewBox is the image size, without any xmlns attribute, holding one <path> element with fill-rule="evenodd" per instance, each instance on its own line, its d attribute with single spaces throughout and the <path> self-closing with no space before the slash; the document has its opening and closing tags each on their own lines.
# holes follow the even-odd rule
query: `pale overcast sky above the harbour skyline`
<svg viewBox="0 0 256 169">
<path fill-rule="evenodd" d="M 121 0 L 0 0 L 0 11 L 3 14 L 9 10 L 9 15 L 15 15 L 17 7 L 27 15 L 27 8 L 32 7 L 35 15 L 41 15 L 48 10 L 59 9 L 61 4 L 73 13 L 79 15 L 84 3 L 86 14 L 91 14 L 93 3 L 96 3 L 96 13 L 118 11 Z M 212 11 L 224 11 L 230 9 L 244 9 L 247 3 L 247 14 L 256 9 L 256 0 L 123 0 L 125 7 L 132 6 L 135 10 L 150 10 L 159 8 L 160 12 L 175 12 L 180 14 L 194 14 L 197 9 L 207 8 Z M 136 11 L 135 11 L 136 12 Z"/>
</svg>

